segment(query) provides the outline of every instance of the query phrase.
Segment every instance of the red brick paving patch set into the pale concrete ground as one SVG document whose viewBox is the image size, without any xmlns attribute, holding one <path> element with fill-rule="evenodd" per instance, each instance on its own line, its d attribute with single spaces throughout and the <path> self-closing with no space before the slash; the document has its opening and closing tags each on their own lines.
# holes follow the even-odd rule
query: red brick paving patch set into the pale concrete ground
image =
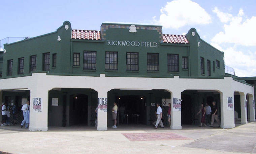
<svg viewBox="0 0 256 154">
<path fill-rule="evenodd" d="M 130 141 L 190 140 L 175 133 L 122 133 Z"/>
</svg>

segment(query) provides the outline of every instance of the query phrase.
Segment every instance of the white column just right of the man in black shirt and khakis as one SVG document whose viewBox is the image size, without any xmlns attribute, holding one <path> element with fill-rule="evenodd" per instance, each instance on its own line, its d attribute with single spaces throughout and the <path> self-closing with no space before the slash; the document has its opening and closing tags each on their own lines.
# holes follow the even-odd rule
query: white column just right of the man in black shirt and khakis
<svg viewBox="0 0 256 154">
<path fill-rule="evenodd" d="M 220 108 L 221 108 L 221 128 L 234 128 L 234 92 L 220 92 Z"/>
</svg>

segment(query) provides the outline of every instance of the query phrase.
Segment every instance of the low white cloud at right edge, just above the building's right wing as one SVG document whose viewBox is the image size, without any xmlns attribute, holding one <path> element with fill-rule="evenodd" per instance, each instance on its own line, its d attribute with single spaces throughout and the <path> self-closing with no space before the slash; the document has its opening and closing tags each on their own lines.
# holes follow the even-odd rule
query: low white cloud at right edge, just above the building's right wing
<svg viewBox="0 0 256 154">
<path fill-rule="evenodd" d="M 248 77 L 256 75 L 256 52 L 249 52 L 246 55 L 242 51 L 237 51 L 235 47 L 223 49 L 216 43 L 211 43 L 211 45 L 225 53 L 225 65 L 232 67 L 236 76 Z"/>
</svg>

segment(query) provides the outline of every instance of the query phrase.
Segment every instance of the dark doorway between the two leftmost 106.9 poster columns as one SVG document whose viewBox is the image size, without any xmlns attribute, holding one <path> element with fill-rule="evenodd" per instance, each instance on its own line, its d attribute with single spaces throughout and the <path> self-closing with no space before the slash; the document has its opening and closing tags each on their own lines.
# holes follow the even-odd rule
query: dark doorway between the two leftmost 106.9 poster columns
<svg viewBox="0 0 256 154">
<path fill-rule="evenodd" d="M 70 95 L 69 126 L 85 125 L 88 122 L 88 96 L 85 94 Z"/>
</svg>

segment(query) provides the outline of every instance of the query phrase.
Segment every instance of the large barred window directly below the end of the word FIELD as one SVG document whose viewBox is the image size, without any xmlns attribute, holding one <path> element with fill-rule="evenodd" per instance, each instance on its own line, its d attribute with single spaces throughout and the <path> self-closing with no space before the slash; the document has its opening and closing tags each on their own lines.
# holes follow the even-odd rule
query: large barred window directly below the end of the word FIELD
<svg viewBox="0 0 256 154">
<path fill-rule="evenodd" d="M 148 53 L 148 71 L 159 71 L 159 55 Z"/>
</svg>

